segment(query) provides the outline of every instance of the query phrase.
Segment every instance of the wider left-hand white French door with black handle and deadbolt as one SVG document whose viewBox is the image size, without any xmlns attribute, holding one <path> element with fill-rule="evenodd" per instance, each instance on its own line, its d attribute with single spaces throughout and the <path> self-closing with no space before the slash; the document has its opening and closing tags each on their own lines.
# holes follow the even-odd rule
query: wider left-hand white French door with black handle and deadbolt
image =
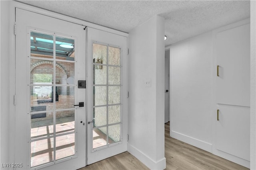
<svg viewBox="0 0 256 170">
<path fill-rule="evenodd" d="M 86 166 L 86 31 L 16 8 L 15 162 L 21 169 Z M 83 85 L 83 82 L 82 84 Z M 74 106 L 84 102 L 84 107 Z"/>
</svg>

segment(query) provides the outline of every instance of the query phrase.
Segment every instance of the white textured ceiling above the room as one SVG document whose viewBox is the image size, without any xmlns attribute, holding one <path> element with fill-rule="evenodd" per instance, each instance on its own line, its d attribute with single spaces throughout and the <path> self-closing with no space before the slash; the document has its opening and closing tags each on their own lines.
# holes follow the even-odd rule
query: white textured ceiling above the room
<svg viewBox="0 0 256 170">
<path fill-rule="evenodd" d="M 39 8 L 129 33 L 155 15 L 165 18 L 165 45 L 250 17 L 250 1 L 22 0 Z"/>
</svg>

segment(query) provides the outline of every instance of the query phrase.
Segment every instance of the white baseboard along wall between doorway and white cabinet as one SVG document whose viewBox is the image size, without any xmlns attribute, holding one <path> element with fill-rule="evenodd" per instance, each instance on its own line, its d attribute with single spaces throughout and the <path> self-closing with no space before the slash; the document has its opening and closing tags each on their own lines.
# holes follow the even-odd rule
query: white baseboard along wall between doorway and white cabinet
<svg viewBox="0 0 256 170">
<path fill-rule="evenodd" d="M 212 144 L 172 131 L 171 137 L 212 153 Z"/>
</svg>

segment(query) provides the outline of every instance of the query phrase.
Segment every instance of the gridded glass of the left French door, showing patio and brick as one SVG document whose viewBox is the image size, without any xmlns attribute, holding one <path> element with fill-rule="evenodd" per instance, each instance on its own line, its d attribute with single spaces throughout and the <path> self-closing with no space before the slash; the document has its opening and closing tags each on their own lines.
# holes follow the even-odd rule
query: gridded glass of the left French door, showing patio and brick
<svg viewBox="0 0 256 170">
<path fill-rule="evenodd" d="M 60 47 L 66 41 L 74 47 L 74 39 L 35 32 L 31 35 L 30 145 L 34 167 L 75 154 L 75 61 L 73 49 Z"/>
</svg>

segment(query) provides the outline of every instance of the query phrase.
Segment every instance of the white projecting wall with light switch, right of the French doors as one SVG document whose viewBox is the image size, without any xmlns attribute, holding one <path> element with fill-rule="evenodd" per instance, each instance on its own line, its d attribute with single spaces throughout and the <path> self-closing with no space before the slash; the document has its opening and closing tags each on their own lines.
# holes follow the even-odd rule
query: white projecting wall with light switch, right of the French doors
<svg viewBox="0 0 256 170">
<path fill-rule="evenodd" d="M 128 151 L 150 169 L 164 169 L 164 19 L 133 29 L 128 47 Z"/>
</svg>

